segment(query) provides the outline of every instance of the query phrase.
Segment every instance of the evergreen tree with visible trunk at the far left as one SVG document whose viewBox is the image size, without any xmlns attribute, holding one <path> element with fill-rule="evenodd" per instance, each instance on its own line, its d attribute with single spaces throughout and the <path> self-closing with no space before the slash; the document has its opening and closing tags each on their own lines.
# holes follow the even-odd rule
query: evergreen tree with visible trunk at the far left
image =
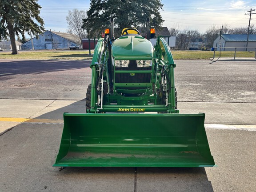
<svg viewBox="0 0 256 192">
<path fill-rule="evenodd" d="M 40 8 L 37 0 L 0 0 L 0 39 L 10 37 L 12 54 L 19 54 L 15 35 L 25 39 L 25 32 L 37 36 L 44 31 Z"/>
</svg>

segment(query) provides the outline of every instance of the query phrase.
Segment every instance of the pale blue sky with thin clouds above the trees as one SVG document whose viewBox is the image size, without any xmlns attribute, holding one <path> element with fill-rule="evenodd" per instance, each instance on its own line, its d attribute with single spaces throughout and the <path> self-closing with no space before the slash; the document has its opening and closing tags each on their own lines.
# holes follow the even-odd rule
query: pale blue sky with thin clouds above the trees
<svg viewBox="0 0 256 192">
<path fill-rule="evenodd" d="M 89 0 L 38 0 L 42 7 L 40 16 L 44 28 L 56 32 L 67 32 L 66 16 L 74 8 L 87 11 Z M 256 9 L 256 0 L 162 0 L 163 27 L 198 30 L 206 32 L 212 25 L 228 24 L 231 28 L 248 27 L 250 8 Z M 256 10 L 252 13 L 256 13 Z M 256 25 L 256 14 L 251 24 Z"/>
</svg>

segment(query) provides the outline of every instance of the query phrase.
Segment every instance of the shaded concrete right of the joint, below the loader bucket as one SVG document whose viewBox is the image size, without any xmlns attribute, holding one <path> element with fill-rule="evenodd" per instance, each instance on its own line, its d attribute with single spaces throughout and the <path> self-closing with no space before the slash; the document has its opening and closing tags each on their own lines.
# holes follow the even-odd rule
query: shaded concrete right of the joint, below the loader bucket
<svg viewBox="0 0 256 192">
<path fill-rule="evenodd" d="M 213 192 L 205 168 L 138 168 L 138 191 Z M 165 190 L 163 190 L 165 189 Z"/>
</svg>

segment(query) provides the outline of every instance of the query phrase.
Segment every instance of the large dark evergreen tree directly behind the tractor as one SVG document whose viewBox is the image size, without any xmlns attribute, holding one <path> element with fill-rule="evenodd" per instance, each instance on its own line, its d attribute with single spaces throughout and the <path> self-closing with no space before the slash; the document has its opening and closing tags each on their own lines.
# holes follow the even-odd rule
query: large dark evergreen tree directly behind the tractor
<svg viewBox="0 0 256 192">
<path fill-rule="evenodd" d="M 89 37 L 99 36 L 109 27 L 111 17 L 118 28 L 116 36 L 120 36 L 123 28 L 145 26 L 147 17 L 151 27 L 160 28 L 164 22 L 160 15 L 164 6 L 161 0 L 91 0 L 90 5 L 83 23 Z"/>
</svg>

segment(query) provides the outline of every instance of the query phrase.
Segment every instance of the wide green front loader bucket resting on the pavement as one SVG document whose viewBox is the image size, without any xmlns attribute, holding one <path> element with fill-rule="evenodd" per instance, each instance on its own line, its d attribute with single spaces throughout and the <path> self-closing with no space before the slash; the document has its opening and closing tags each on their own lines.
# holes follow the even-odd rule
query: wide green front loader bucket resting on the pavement
<svg viewBox="0 0 256 192">
<path fill-rule="evenodd" d="M 64 113 L 60 167 L 214 167 L 200 114 Z"/>
</svg>

